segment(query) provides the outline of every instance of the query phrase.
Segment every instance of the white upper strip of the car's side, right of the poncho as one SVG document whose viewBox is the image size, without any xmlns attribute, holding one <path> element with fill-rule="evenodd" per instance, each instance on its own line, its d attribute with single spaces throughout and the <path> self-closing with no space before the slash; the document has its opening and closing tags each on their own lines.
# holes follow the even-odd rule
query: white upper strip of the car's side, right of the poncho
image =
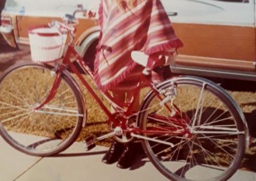
<svg viewBox="0 0 256 181">
<path fill-rule="evenodd" d="M 161 0 L 172 22 L 254 27 L 254 1 Z"/>
</svg>

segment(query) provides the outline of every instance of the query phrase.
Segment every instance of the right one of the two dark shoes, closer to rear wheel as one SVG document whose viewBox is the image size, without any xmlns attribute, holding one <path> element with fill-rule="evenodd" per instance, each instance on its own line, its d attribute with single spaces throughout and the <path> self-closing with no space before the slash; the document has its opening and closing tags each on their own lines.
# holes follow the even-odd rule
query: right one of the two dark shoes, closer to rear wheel
<svg viewBox="0 0 256 181">
<path fill-rule="evenodd" d="M 129 168 L 132 165 L 132 161 L 134 159 L 134 150 L 131 147 L 132 143 L 125 147 L 124 152 L 118 159 L 117 167 L 118 168 Z"/>
</svg>

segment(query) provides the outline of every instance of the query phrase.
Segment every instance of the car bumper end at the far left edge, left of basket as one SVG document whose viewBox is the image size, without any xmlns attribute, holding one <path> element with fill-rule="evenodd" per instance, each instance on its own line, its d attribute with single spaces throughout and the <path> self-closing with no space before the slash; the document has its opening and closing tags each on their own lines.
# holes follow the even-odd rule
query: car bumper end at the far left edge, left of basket
<svg viewBox="0 0 256 181">
<path fill-rule="evenodd" d="M 13 33 L 13 27 L 12 26 L 0 26 L 0 33 L 3 35 L 4 40 L 11 46 L 11 47 L 18 47 L 17 42 L 15 40 L 15 36 Z"/>
</svg>

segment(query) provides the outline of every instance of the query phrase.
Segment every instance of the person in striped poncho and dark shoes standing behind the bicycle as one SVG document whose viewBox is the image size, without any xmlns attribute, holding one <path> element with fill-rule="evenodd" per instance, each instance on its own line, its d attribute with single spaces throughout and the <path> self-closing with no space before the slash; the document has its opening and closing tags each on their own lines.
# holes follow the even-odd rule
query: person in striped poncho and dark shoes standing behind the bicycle
<svg viewBox="0 0 256 181">
<path fill-rule="evenodd" d="M 153 69 L 164 64 L 164 55 L 182 47 L 160 0 L 101 0 L 99 6 L 100 40 L 95 58 L 95 80 L 102 91 L 115 99 L 130 102 L 143 67 L 132 61 L 136 50 L 149 55 Z M 158 76 L 159 78 L 159 76 Z M 138 111 L 139 100 L 135 100 Z M 120 168 L 131 166 L 132 144 L 113 141 L 104 163 Z"/>
</svg>

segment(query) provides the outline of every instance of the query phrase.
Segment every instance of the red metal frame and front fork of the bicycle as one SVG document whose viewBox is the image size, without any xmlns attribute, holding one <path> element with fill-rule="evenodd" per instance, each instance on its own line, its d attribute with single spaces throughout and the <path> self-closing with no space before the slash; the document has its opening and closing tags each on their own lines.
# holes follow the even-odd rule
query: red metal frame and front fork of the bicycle
<svg viewBox="0 0 256 181">
<path fill-rule="evenodd" d="M 83 83 L 84 87 L 86 87 L 86 89 L 90 92 L 90 94 L 93 96 L 93 98 L 95 99 L 95 101 L 98 103 L 98 105 L 100 106 L 100 108 L 102 108 L 102 110 L 106 113 L 106 115 L 108 116 L 108 124 L 113 124 L 114 127 L 116 126 L 120 126 L 123 129 L 124 133 L 133 133 L 133 136 L 137 136 L 137 137 L 141 137 L 139 135 L 136 134 L 141 134 L 141 133 L 155 133 L 155 134 L 190 134 L 189 131 L 186 129 L 186 126 L 184 123 L 182 123 L 181 119 L 176 119 L 175 117 L 173 117 L 171 119 L 171 121 L 175 122 L 177 125 L 182 126 L 183 129 L 179 129 L 175 126 L 173 126 L 170 131 L 163 131 L 160 129 L 152 129 L 150 131 L 143 131 L 141 129 L 139 129 L 138 127 L 129 127 L 129 129 L 127 129 L 126 125 L 125 125 L 125 121 L 122 122 L 120 124 L 120 120 L 116 120 L 115 119 L 115 114 L 109 112 L 108 108 L 106 108 L 106 106 L 104 105 L 104 103 L 102 103 L 102 100 L 99 98 L 99 96 L 97 96 L 97 94 L 93 91 L 92 87 L 86 82 L 86 80 L 83 78 L 83 76 L 81 75 L 81 73 L 79 72 L 79 70 L 76 68 L 76 66 L 73 64 L 73 62 L 70 61 L 70 57 L 76 57 L 76 61 L 79 63 L 79 65 L 81 66 L 81 68 L 85 71 L 85 73 L 87 73 L 89 76 L 91 76 L 93 78 L 93 73 L 90 70 L 90 68 L 88 67 L 88 65 L 86 64 L 86 62 L 83 61 L 83 59 L 81 58 L 81 56 L 79 54 L 77 54 L 76 50 L 74 49 L 73 45 L 68 45 L 67 48 L 67 52 L 63 58 L 63 62 L 56 67 L 55 72 L 56 72 L 56 79 L 54 80 L 54 83 L 51 87 L 51 91 L 49 93 L 49 96 L 45 99 L 45 101 L 43 103 L 41 103 L 41 105 L 37 106 L 36 108 L 34 108 L 35 110 L 38 110 L 39 108 L 42 108 L 45 104 L 49 103 L 49 101 L 51 101 L 52 98 L 54 98 L 58 87 L 60 85 L 61 82 L 61 73 L 67 69 L 67 67 L 72 71 L 72 73 L 74 73 L 75 75 L 77 75 L 77 77 L 81 80 L 81 82 Z M 132 112 L 132 108 L 135 104 L 135 99 L 138 98 L 138 96 L 140 95 L 140 89 L 141 87 L 145 87 L 148 86 L 150 87 L 150 89 L 152 91 L 154 91 L 157 94 L 157 97 L 163 101 L 163 99 L 161 99 L 161 97 L 159 96 L 159 92 L 155 89 L 154 84 L 152 83 L 152 81 L 150 80 L 150 76 L 146 76 L 141 74 L 140 78 L 139 78 L 139 83 L 134 91 L 134 98 L 132 100 L 131 103 L 120 103 L 117 102 L 115 99 L 113 99 L 113 97 L 111 97 L 111 95 L 108 92 L 104 92 L 103 94 L 112 102 L 115 103 L 116 105 L 120 106 L 120 107 L 127 107 L 126 112 L 124 112 L 124 115 L 126 117 L 131 116 L 132 114 L 134 114 Z M 142 85 L 143 83 L 143 85 Z M 168 107 L 165 103 L 164 105 L 168 108 L 168 110 L 171 111 L 171 108 Z M 175 108 L 175 110 L 177 110 L 177 113 L 179 112 L 179 109 Z M 125 119 L 126 120 L 126 119 Z M 170 119 L 168 120 L 170 121 Z M 136 134 L 134 134 L 136 133 Z M 144 136 L 143 136 L 144 137 Z"/>
</svg>

